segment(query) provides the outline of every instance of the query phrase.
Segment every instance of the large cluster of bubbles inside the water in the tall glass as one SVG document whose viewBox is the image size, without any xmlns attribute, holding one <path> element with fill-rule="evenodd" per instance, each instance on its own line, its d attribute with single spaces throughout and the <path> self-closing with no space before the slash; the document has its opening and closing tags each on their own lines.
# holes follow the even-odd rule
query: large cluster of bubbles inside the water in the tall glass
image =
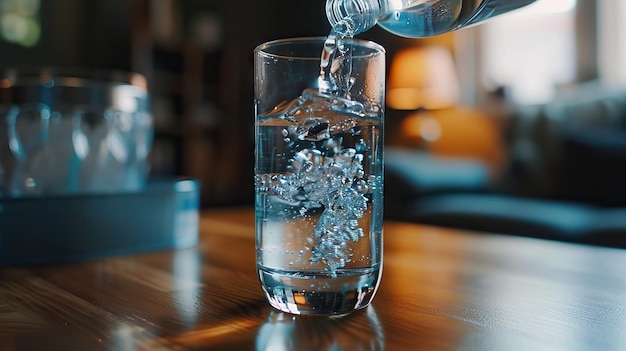
<svg viewBox="0 0 626 351">
<path fill-rule="evenodd" d="M 336 274 L 337 269 L 351 261 L 353 255 L 349 242 L 364 236 L 358 219 L 368 206 L 368 194 L 375 184 L 364 178 L 362 139 L 355 148 L 342 147 L 343 139 L 324 140 L 322 150 L 315 147 L 298 151 L 291 159 L 293 173 L 281 175 L 272 183 L 280 199 L 300 206 L 305 216 L 310 209 L 322 209 L 315 222 L 312 237 L 305 239 L 306 246 L 298 255 L 310 251 L 309 261 L 326 265 L 326 270 Z M 330 149 L 330 150 L 329 150 Z M 312 216 L 307 221 L 314 221 Z M 289 251 L 288 254 L 294 254 Z"/>
</svg>

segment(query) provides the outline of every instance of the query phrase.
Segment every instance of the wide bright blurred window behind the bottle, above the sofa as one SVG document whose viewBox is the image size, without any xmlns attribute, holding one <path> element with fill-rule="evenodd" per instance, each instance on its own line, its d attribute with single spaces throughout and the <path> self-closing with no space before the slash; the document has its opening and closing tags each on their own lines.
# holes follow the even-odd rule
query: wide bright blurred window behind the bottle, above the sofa
<svg viewBox="0 0 626 351">
<path fill-rule="evenodd" d="M 487 90 L 503 88 L 510 101 L 549 101 L 576 79 L 576 0 L 538 0 L 480 26 L 480 76 Z"/>
</svg>

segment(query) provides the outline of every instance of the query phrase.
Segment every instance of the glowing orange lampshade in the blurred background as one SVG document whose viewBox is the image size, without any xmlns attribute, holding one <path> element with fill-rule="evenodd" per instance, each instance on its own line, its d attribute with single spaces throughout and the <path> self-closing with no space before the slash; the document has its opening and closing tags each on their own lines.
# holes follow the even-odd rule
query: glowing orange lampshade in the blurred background
<svg viewBox="0 0 626 351">
<path fill-rule="evenodd" d="M 450 50 L 418 46 L 399 51 L 391 61 L 387 105 L 397 110 L 436 110 L 455 105 L 459 82 Z"/>
</svg>

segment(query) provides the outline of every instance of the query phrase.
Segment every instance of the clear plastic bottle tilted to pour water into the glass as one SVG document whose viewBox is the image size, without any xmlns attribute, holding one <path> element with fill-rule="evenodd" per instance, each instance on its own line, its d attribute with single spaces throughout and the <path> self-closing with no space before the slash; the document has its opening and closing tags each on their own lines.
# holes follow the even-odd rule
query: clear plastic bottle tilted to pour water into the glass
<svg viewBox="0 0 626 351">
<path fill-rule="evenodd" d="M 376 24 L 409 38 L 423 38 L 465 28 L 507 13 L 535 0 L 327 0 L 326 16 L 333 28 L 348 35 Z"/>
</svg>

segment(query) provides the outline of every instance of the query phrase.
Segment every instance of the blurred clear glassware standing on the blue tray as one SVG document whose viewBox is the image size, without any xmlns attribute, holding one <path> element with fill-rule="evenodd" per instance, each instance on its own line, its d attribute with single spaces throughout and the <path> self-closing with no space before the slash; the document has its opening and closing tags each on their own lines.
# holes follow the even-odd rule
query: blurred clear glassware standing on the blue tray
<svg viewBox="0 0 626 351">
<path fill-rule="evenodd" d="M 139 74 L 7 70 L 0 75 L 0 197 L 138 190 L 152 133 Z"/>
</svg>

